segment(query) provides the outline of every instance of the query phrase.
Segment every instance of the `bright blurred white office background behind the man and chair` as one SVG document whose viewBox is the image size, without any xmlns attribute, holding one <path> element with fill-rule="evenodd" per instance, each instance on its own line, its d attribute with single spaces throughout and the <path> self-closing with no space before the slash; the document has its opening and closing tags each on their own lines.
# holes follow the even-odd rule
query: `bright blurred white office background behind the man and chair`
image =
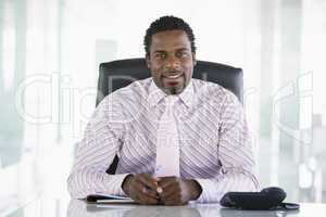
<svg viewBox="0 0 326 217">
<path fill-rule="evenodd" d="M 145 30 L 170 14 L 199 60 L 243 68 L 261 186 L 326 202 L 326 1 L 0 0 L 0 214 L 51 195 L 40 206 L 65 216 L 99 63 L 143 56 Z M 29 212 L 13 215 L 42 216 Z"/>
</svg>

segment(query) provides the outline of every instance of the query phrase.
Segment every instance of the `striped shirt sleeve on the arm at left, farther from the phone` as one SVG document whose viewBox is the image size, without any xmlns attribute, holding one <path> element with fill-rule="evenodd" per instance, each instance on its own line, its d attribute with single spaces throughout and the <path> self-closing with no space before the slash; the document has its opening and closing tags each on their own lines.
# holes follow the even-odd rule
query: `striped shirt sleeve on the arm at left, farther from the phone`
<svg viewBox="0 0 326 217">
<path fill-rule="evenodd" d="M 124 124 L 122 114 L 117 112 L 121 111 L 118 106 L 117 101 L 113 102 L 112 94 L 106 97 L 86 127 L 67 179 L 73 199 L 97 193 L 125 195 L 121 184 L 128 174 L 105 173 L 122 144 Z"/>
</svg>

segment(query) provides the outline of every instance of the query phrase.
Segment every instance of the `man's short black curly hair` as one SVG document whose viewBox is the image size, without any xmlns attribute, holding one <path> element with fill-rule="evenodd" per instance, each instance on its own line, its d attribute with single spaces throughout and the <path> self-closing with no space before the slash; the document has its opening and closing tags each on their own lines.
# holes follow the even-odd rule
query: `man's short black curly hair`
<svg viewBox="0 0 326 217">
<path fill-rule="evenodd" d="M 184 30 L 190 41 L 191 52 L 196 53 L 195 35 L 189 24 L 187 24 L 184 20 L 175 16 L 162 16 L 151 23 L 150 27 L 146 30 L 146 36 L 143 38 L 146 56 L 149 56 L 150 54 L 152 36 L 165 30 Z"/>
</svg>

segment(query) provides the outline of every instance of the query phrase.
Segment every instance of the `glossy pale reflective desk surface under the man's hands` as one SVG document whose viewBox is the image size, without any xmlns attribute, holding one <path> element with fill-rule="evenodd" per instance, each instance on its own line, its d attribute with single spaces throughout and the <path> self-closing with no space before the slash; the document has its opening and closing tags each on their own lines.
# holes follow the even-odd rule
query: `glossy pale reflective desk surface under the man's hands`
<svg viewBox="0 0 326 217">
<path fill-rule="evenodd" d="M 14 217 L 325 217 L 326 204 L 302 203 L 299 212 L 234 210 L 220 204 L 185 206 L 97 205 L 84 201 L 36 200 L 3 216 Z M 0 215 L 2 216 L 2 215 Z"/>
</svg>

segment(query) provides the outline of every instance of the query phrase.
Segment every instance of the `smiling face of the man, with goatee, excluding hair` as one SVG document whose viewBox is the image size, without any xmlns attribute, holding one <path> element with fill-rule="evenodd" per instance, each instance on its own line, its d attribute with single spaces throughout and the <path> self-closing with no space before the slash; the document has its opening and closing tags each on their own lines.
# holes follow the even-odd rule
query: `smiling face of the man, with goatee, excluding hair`
<svg viewBox="0 0 326 217">
<path fill-rule="evenodd" d="M 178 94 L 189 84 L 196 55 L 184 30 L 154 34 L 147 65 L 155 85 L 167 94 Z"/>
</svg>

